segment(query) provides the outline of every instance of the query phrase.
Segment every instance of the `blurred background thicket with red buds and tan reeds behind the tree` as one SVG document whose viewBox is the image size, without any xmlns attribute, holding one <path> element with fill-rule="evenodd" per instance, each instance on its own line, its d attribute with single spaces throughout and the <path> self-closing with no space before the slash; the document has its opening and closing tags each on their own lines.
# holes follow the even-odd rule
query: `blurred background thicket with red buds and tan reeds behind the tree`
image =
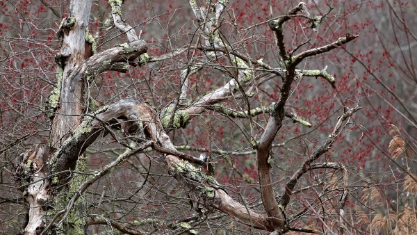
<svg viewBox="0 0 417 235">
<path fill-rule="evenodd" d="M 286 15 L 297 3 L 231 0 L 218 30 L 240 53 L 279 67 L 282 62 L 268 20 Z M 48 142 L 50 121 L 44 102 L 56 83 L 54 56 L 60 47 L 56 32 L 67 8 L 68 1 L 0 1 L 0 234 L 17 234 L 24 227 L 28 209 L 14 172 L 20 154 L 33 144 Z M 288 181 L 306 156 L 324 143 L 345 107 L 361 106 L 320 159 L 341 162 L 347 169 L 347 234 L 417 234 L 417 1 L 309 0 L 306 8 L 311 16 L 325 17 L 317 19 L 316 27 L 306 24 L 303 17 L 291 19 L 284 27 L 288 50 L 303 43 L 306 48 L 328 44 L 347 33 L 359 38 L 297 66 L 299 70 L 326 70 L 336 79 L 336 88 L 320 77 L 302 77 L 293 83 L 286 110 L 297 113 L 311 127 L 285 120 L 272 148 L 275 184 Z M 204 52 L 187 49 L 199 46 L 197 20 L 188 1 L 124 1 L 123 16 L 149 44 L 151 58 L 184 50 L 131 67 L 126 73 L 104 72 L 90 84 L 91 96 L 99 105 L 137 98 L 161 111 L 178 99 L 181 72 L 204 60 Z M 88 30 L 97 51 L 126 41 L 125 35 L 112 28 L 112 21 L 107 1 L 93 1 Z M 190 100 L 223 86 L 228 81 L 223 68 L 206 63 L 190 76 Z M 260 68 L 252 66 L 258 75 Z M 279 81 L 254 86 L 250 107 L 276 102 Z M 236 111 L 246 111 L 246 104 L 238 98 L 224 102 Z M 185 127 L 166 131 L 180 151 L 208 154 L 214 177 L 227 193 L 256 209 L 261 199 L 248 135 L 259 138 L 267 117 L 268 113 L 256 115 L 252 127 L 246 118 L 207 108 Z M 111 136 L 101 138 L 85 155 L 90 173 L 124 151 Z M 288 207 L 291 216 L 302 218 L 293 223 L 295 227 L 325 234 L 332 231 L 338 220 L 334 203 L 341 197 L 341 178 L 340 173 L 320 169 L 300 179 L 295 188 L 297 200 Z M 149 234 L 181 234 L 181 222 L 192 226 L 188 232 L 201 234 L 262 233 L 218 211 L 199 218 L 190 209 L 186 193 L 170 177 L 163 156 L 156 152 L 132 156 L 90 186 L 85 198 L 90 215 L 107 221 L 91 222 L 90 234 L 117 234 L 113 229 L 117 222 Z"/>
</svg>

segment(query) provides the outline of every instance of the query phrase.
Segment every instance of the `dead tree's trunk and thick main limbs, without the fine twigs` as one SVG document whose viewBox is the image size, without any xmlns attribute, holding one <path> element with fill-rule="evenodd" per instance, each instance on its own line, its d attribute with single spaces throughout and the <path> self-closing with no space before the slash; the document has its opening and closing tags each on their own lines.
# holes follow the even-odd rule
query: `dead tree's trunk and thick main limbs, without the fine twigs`
<svg viewBox="0 0 417 235">
<path fill-rule="evenodd" d="M 213 19 L 220 17 L 226 3 L 227 1 L 219 1 L 212 17 L 203 17 L 202 10 L 194 1 L 190 1 L 190 6 L 199 20 L 217 22 Z M 47 112 L 52 120 L 49 145 L 34 146 L 24 154 L 23 161 L 17 169 L 17 175 L 24 188 L 24 197 L 30 208 L 28 224 L 23 234 L 44 234 L 45 232 L 48 234 L 84 234 L 87 215 L 84 213 L 85 206 L 80 200 L 80 195 L 88 186 L 106 175 L 109 169 L 146 147 L 153 147 L 156 151 L 165 154 L 165 162 L 170 174 L 185 188 L 195 211 L 210 213 L 213 209 L 218 209 L 227 213 L 231 218 L 258 229 L 275 231 L 279 234 L 288 232 L 290 227 L 286 220 L 285 208 L 295 182 L 313 168 L 313 161 L 331 147 L 334 139 L 343 129 L 343 123 L 357 111 L 356 108 L 345 111 L 338 120 L 334 132 L 329 136 L 329 141 L 319 147 L 318 151 L 294 175 L 292 181 L 288 182 L 286 194 L 279 204 L 272 188 L 270 149 L 277 131 L 281 128 L 282 121 L 288 117 L 285 106 L 291 92 L 291 83 L 295 80 L 295 76 L 324 76 L 322 75 L 324 72 L 321 75 L 311 75 L 311 71 L 304 71 L 303 74 L 296 70 L 296 65 L 308 56 L 335 49 L 354 40 L 357 36 L 346 35 L 331 44 L 293 56 L 285 50 L 282 32 L 282 25 L 289 17 L 282 17 L 270 23 L 271 30 L 276 32 L 279 54 L 285 62 L 285 68 L 275 70 L 277 73 L 282 73 L 280 75 L 283 77 L 281 98 L 272 107 L 271 117 L 263 136 L 259 141 L 254 141 L 260 179 L 259 187 L 264 208 L 264 211 L 255 211 L 234 200 L 213 177 L 206 175 L 192 164 L 202 165 L 204 159 L 196 159 L 178 152 L 165 133 L 164 127 L 172 125 L 183 127 L 192 115 L 202 113 L 202 107 L 200 107 L 202 104 L 221 102 L 231 94 L 232 90 L 238 90 L 241 84 L 254 79 L 247 64 L 258 63 L 263 67 L 270 66 L 265 63 L 261 64 L 257 60 L 252 61 L 251 58 L 242 54 L 230 52 L 229 56 L 233 58 L 233 64 L 236 65 L 235 78 L 224 87 L 213 90 L 198 100 L 195 104 L 200 104 L 199 106 L 190 106 L 181 112 L 176 112 L 177 105 L 169 106 L 167 110 L 161 112 L 162 122 L 152 107 L 135 99 L 124 99 L 110 106 L 101 107 L 97 111 L 91 111 L 89 105 L 91 100 L 88 97 L 86 84 L 97 74 L 106 70 L 112 70 L 115 67 L 117 71 L 128 70 L 130 64 L 135 64 L 133 60 L 147 51 L 147 44 L 139 40 L 134 29 L 122 21 L 122 1 L 110 0 L 114 25 L 122 33 L 128 35 L 129 44 L 120 44 L 96 53 L 95 42 L 88 33 L 91 4 L 91 0 L 71 1 L 70 16 L 63 19 L 60 24 L 58 35 L 62 44 L 56 55 L 58 81 L 56 88 L 51 92 L 47 106 Z M 298 4 L 289 14 L 295 15 L 302 11 L 304 6 L 304 3 Z M 211 35 L 206 40 L 213 40 L 209 43 L 213 47 L 206 49 L 224 53 L 229 48 L 220 40 L 220 35 L 211 31 L 215 28 L 208 27 L 203 31 Z M 186 79 L 187 76 L 183 76 L 183 83 L 186 83 Z M 333 86 L 334 80 L 332 78 L 330 80 Z M 244 91 L 243 95 L 245 95 Z M 95 174 L 92 179 L 74 180 L 71 172 L 76 168 L 79 157 L 100 134 L 105 135 L 111 128 L 122 129 L 132 142 L 141 146 L 131 149 L 131 153 L 119 156 L 117 160 Z M 322 167 L 329 167 L 329 165 L 322 165 Z M 63 193 L 64 197 L 57 197 L 58 191 L 62 192 L 67 188 L 71 190 Z"/>
</svg>

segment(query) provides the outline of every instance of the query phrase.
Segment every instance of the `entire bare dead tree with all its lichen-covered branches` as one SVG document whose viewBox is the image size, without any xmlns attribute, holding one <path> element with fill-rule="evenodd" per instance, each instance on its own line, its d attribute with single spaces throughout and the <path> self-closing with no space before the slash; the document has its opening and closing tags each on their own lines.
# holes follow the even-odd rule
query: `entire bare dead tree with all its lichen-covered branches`
<svg viewBox="0 0 417 235">
<path fill-rule="evenodd" d="M 88 225 L 103 224 L 110 224 L 112 228 L 126 234 L 153 232 L 149 227 L 146 230 L 138 224 L 129 225 L 89 213 L 85 199 L 88 188 L 111 174 L 118 165 L 150 151 L 163 155 L 170 177 L 176 179 L 176 184 L 183 188 L 192 210 L 198 215 L 167 226 L 174 234 L 195 233 L 193 227 L 208 220 L 211 214 L 220 217 L 227 215 L 227 218 L 250 229 L 261 229 L 272 234 L 284 234 L 291 230 L 314 233 L 314 229 L 296 226 L 297 221 L 307 212 L 317 212 L 313 210 L 315 206 L 303 204 L 302 200 L 294 197 L 294 191 L 297 185 L 302 185 L 299 183 L 306 173 L 318 169 L 329 170 L 334 175 L 340 174 L 341 186 L 332 190 L 332 193 L 338 195 L 337 204 L 332 207 L 336 211 L 336 219 L 332 220 L 337 221 L 338 225 L 331 228 L 325 219 L 320 216 L 316 218 L 321 220 L 323 227 L 327 226 L 326 231 L 345 233 L 345 203 L 350 194 L 347 170 L 342 163 L 317 161 L 331 149 L 336 138 L 351 127 L 350 117 L 361 107 L 342 107 L 343 111 L 338 113 L 337 119 L 332 120 L 332 128 L 325 134 L 320 145 L 304 154 L 302 163 L 288 179 L 278 179 L 279 175 L 271 173 L 274 170 L 272 147 L 277 134 L 285 127 L 286 120 L 292 120 L 297 125 L 312 126 L 288 108 L 293 85 L 304 82 L 303 77 L 320 77 L 332 88 L 336 88 L 336 79 L 327 72 L 327 68 L 300 69 L 301 63 L 306 58 L 338 50 L 358 37 L 345 33 L 336 40 L 320 45 L 310 43 L 309 38 L 306 38 L 306 42 L 288 44 L 286 37 L 291 35 L 291 30 L 286 30 L 286 24 L 297 19 L 300 24 L 304 24 L 300 30 L 308 27 L 315 29 L 332 8 L 325 14 L 313 16 L 306 8 L 306 3 L 301 2 L 289 8 L 286 14 L 263 22 L 268 24 L 270 32 L 274 34 L 272 40 L 275 40 L 277 47 L 275 60 L 267 61 L 267 58 L 256 59 L 251 56 L 250 50 L 240 40 L 231 41 L 225 37 L 227 29 L 222 26 L 223 19 L 225 15 L 234 19 L 233 11 L 227 10 L 228 1 L 209 2 L 206 6 L 197 1 L 189 1 L 195 17 L 194 35 L 183 47 L 172 48 L 170 45 L 171 51 L 160 55 L 147 53 L 151 46 L 145 40 L 140 40 L 136 29 L 124 21 L 122 3 L 117 0 L 108 1 L 113 18 L 111 25 L 126 35 L 126 42 L 108 49 L 97 51 L 95 39 L 89 33 L 91 0 L 70 1 L 69 15 L 60 23 L 57 33 L 60 48 L 55 56 L 58 78 L 47 99 L 47 108 L 44 109 L 51 120 L 49 143 L 33 145 L 28 149 L 22 154 L 16 170 L 19 188 L 24 191 L 23 198 L 29 209 L 28 221 L 22 234 L 84 234 Z M 233 20 L 231 22 L 237 24 Z M 247 26 L 246 29 L 251 27 L 256 25 Z M 302 50 L 304 46 L 309 47 Z M 158 67 L 181 55 L 186 60 L 178 60 L 178 64 L 181 64 L 177 67 L 179 77 L 172 78 L 178 82 L 178 89 L 175 90 L 177 95 L 162 108 L 131 98 L 99 106 L 101 102 L 97 102 L 92 95 L 93 92 L 100 92 L 92 88 L 99 74 L 106 71 L 128 72 L 131 66 Z M 221 85 L 214 83 L 213 86 L 218 87 L 211 90 L 197 91 L 197 88 L 193 88 L 193 76 L 206 75 L 202 74 L 206 69 L 215 71 L 218 76 L 227 79 L 226 82 Z M 272 90 L 277 93 L 272 101 L 253 98 L 256 93 L 259 94 L 263 84 L 272 81 L 276 84 Z M 228 102 L 236 101 L 239 106 L 228 106 Z M 193 118 L 205 113 L 244 120 L 243 124 L 236 122 L 236 128 L 240 129 L 240 135 L 252 147 L 250 154 L 255 154 L 259 177 L 256 188 L 259 188 L 261 195 L 259 204 L 249 205 L 245 198 L 236 196 L 227 185 L 220 184 L 212 174 L 215 161 L 206 154 L 195 156 L 199 151 L 197 147 L 191 149 L 172 143 L 173 136 L 168 136 L 166 131 L 174 133 L 186 128 Z M 111 136 L 125 151 L 117 154 L 117 158 L 103 168 L 92 172 L 88 170 L 84 155 L 90 145 L 104 136 Z M 114 147 L 115 143 L 110 146 Z M 191 151 L 186 152 L 188 150 Z M 204 151 L 209 154 L 216 152 L 207 149 Z M 218 153 L 222 154 L 220 150 Z M 238 154 L 244 155 L 243 152 Z M 277 184 L 278 181 L 281 183 Z M 313 189 L 314 186 L 311 183 L 306 189 Z M 103 202 L 103 197 L 101 195 L 97 207 Z M 327 200 L 332 204 L 332 197 L 327 197 L 329 194 L 326 188 L 318 200 Z M 131 198 L 126 199 L 129 200 Z M 291 200 L 298 203 L 298 207 L 289 206 Z"/>
</svg>

